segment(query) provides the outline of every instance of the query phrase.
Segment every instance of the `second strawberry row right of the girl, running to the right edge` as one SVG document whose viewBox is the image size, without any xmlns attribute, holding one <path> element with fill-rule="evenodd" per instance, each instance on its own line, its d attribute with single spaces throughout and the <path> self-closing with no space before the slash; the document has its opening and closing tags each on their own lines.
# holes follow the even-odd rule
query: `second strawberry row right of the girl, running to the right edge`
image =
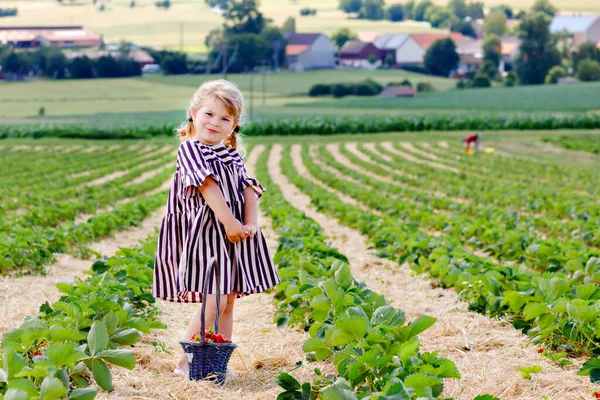
<svg viewBox="0 0 600 400">
<path fill-rule="evenodd" d="M 497 265 L 467 251 L 456 238 L 420 231 L 418 222 L 344 203 L 300 176 L 287 152 L 283 159 L 284 174 L 319 209 L 369 236 L 380 255 L 429 273 L 443 287 L 454 287 L 471 310 L 509 316 L 536 343 L 575 354 L 600 351 L 600 290 L 594 283 L 600 281 L 600 258 L 591 257 L 572 277 L 534 272 L 523 265 Z M 317 170 L 311 167 L 311 173 Z M 359 200 L 376 195 L 354 184 L 343 192 Z M 393 207 L 384 196 L 378 199 L 379 206 Z"/>
</svg>

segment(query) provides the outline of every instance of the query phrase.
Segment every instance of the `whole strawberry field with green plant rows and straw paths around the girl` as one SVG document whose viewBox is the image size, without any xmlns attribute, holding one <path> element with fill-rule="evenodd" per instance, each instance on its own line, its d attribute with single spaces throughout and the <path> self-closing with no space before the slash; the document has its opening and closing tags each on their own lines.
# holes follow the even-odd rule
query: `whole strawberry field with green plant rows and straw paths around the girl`
<svg viewBox="0 0 600 400">
<path fill-rule="evenodd" d="M 282 282 L 223 386 L 173 374 L 197 306 L 151 296 L 177 143 L 0 142 L 0 399 L 593 398 L 598 133 L 528 135 L 252 138 Z"/>
</svg>

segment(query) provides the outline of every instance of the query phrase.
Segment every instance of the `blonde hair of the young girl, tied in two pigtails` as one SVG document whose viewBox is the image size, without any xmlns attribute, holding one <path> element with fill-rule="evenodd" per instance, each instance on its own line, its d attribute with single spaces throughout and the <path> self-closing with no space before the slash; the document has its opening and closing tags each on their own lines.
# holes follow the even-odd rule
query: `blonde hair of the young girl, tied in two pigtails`
<svg viewBox="0 0 600 400">
<path fill-rule="evenodd" d="M 233 83 L 225 79 L 217 79 L 214 81 L 206 81 L 190 100 L 190 106 L 187 110 L 188 122 L 181 124 L 176 128 L 179 134 L 179 139 L 184 142 L 189 138 L 194 137 L 196 129 L 192 121 L 193 116 L 196 112 L 204 105 L 207 101 L 217 100 L 225 106 L 227 112 L 233 117 L 235 123 L 235 129 L 231 135 L 227 136 L 223 140 L 223 144 L 228 147 L 233 147 L 238 150 L 240 154 L 244 153 L 242 147 L 242 136 L 239 134 L 239 129 L 242 125 L 242 121 L 245 117 L 244 114 L 244 96 L 240 89 Z"/>
</svg>

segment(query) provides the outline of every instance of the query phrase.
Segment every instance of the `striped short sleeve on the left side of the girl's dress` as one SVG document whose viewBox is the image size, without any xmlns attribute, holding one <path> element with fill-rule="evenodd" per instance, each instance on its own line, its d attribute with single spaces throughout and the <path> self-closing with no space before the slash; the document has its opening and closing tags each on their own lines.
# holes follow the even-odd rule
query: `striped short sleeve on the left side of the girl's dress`
<svg viewBox="0 0 600 400">
<path fill-rule="evenodd" d="M 219 176 L 212 170 L 200 146 L 193 140 L 187 140 L 179 146 L 177 160 L 181 172 L 181 193 L 184 197 L 189 193 L 188 188 L 202 186 L 209 176 L 219 182 Z"/>
</svg>

